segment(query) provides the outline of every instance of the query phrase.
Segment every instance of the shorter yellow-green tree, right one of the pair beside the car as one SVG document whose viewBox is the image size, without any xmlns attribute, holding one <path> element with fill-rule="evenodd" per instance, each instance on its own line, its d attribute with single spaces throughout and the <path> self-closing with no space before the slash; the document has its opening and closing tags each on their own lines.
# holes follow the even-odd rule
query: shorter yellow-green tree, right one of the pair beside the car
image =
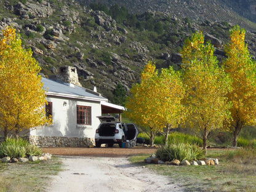
<svg viewBox="0 0 256 192">
<path fill-rule="evenodd" d="M 157 98 L 156 111 L 158 111 L 158 119 L 166 127 L 166 141 L 167 146 L 168 135 L 170 129 L 177 128 L 183 119 L 183 105 L 181 103 L 185 90 L 183 88 L 180 73 L 175 71 L 171 66 L 167 69 L 162 69 L 156 79 L 156 93 Z"/>
</svg>

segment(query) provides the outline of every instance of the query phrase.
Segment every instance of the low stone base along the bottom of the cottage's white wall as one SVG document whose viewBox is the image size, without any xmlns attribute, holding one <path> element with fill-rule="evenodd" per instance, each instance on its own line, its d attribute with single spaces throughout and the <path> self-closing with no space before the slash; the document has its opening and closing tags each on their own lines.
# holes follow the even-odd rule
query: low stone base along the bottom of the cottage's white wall
<svg viewBox="0 0 256 192">
<path fill-rule="evenodd" d="M 92 138 L 54 137 L 30 135 L 30 143 L 39 147 L 89 147 L 94 145 Z"/>
</svg>

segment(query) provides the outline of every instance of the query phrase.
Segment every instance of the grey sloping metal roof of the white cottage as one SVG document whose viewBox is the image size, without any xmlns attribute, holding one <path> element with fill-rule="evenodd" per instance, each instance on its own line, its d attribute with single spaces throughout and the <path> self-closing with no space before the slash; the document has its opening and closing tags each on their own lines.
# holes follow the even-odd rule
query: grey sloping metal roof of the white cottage
<svg viewBox="0 0 256 192">
<path fill-rule="evenodd" d="M 107 100 L 107 98 L 102 97 L 97 92 L 94 92 L 92 90 L 86 89 L 84 87 L 76 86 L 74 84 L 65 84 L 62 82 L 57 82 L 52 79 L 46 79 L 42 78 L 42 82 L 44 83 L 44 89 L 47 90 L 47 92 L 54 92 L 57 94 L 67 94 L 67 95 L 73 95 L 73 96 L 79 96 L 79 97 L 92 97 L 92 98 L 98 98 L 99 100 Z M 47 94 L 47 93 L 46 93 Z"/>
</svg>

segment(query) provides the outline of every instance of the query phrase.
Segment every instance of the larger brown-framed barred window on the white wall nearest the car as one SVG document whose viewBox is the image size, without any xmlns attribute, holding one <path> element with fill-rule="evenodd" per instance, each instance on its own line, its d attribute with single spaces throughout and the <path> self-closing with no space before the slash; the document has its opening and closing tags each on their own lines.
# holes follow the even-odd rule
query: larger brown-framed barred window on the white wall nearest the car
<svg viewBox="0 0 256 192">
<path fill-rule="evenodd" d="M 82 125 L 92 124 L 90 106 L 76 106 L 76 122 Z"/>
</svg>

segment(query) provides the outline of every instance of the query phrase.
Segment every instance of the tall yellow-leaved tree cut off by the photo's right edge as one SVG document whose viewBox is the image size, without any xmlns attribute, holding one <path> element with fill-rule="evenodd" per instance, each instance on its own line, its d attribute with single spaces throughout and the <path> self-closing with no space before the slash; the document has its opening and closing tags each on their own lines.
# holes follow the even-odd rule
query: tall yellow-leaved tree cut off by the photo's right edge
<svg viewBox="0 0 256 192">
<path fill-rule="evenodd" d="M 238 25 L 230 31 L 231 41 L 225 46 L 223 65 L 232 79 L 228 99 L 232 102 L 230 129 L 233 131 L 233 146 L 237 145 L 242 127 L 256 124 L 256 63 L 252 60 L 244 41 L 246 31 Z"/>
</svg>

